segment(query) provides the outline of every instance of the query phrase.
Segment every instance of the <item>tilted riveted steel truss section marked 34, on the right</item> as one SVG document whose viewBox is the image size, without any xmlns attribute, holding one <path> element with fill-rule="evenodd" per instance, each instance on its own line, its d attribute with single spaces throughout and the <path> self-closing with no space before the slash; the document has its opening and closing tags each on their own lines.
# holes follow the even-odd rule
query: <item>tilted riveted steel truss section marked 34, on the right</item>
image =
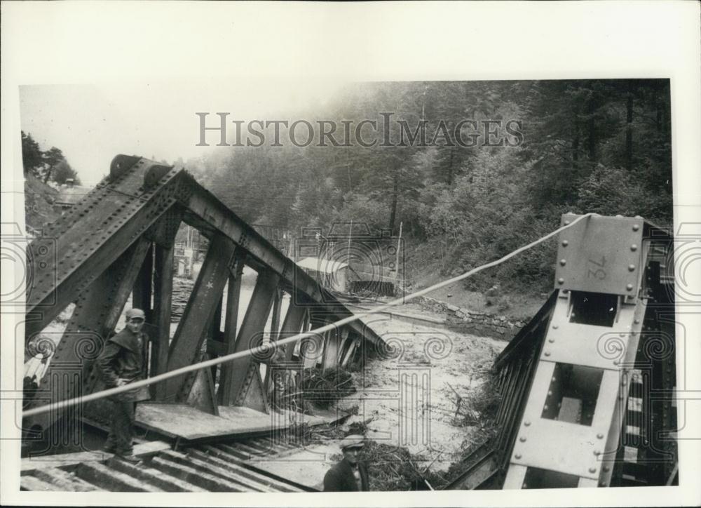
<svg viewBox="0 0 701 508">
<path fill-rule="evenodd" d="M 563 225 L 574 218 L 563 215 Z M 559 289 L 495 362 L 504 396 L 496 441 L 503 488 L 620 484 L 626 434 L 633 432 L 626 425 L 634 414 L 630 385 L 643 323 L 650 321 L 648 300 L 660 284 L 659 265 L 650 255 L 669 242 L 659 233 L 641 218 L 600 216 L 562 232 Z M 668 342 L 673 352 L 673 338 Z M 668 377 L 656 381 L 673 385 Z M 649 394 L 637 386 L 634 406 L 645 413 Z M 641 418 L 634 432 L 648 430 Z M 656 420 L 654 432 L 671 430 L 669 421 Z M 665 464 L 665 472 L 672 464 Z M 637 471 L 644 481 L 662 485 L 669 475 L 655 473 L 655 467 Z"/>
</svg>

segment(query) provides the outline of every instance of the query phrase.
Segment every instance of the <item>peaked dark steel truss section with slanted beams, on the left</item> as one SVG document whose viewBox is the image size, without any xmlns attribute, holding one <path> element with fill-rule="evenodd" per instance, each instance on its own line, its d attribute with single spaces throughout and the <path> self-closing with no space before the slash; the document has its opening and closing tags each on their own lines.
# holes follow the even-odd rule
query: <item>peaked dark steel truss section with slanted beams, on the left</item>
<svg viewBox="0 0 701 508">
<path fill-rule="evenodd" d="M 207 236 L 210 248 L 170 342 L 173 242 L 181 220 Z M 33 275 L 26 298 L 27 344 L 31 345 L 50 321 L 76 302 L 74 315 L 41 382 L 40 399 L 32 402 L 34 406 L 47 402 L 46 396 L 41 399 L 42 394 L 57 401 L 74 396 L 81 384 L 83 393 L 99 389 L 91 363 L 114 330 L 132 292 L 133 304 L 147 312 L 152 375 L 198 361 L 207 335 L 212 335 L 211 344 L 219 344 L 217 354 L 247 349 L 251 341 L 259 342 L 258 337 L 263 336 L 271 307 L 272 331 L 276 331 L 281 290 L 291 296 L 290 311 L 280 328 L 283 334 L 299 331 L 311 308 L 323 312 L 325 321 L 352 315 L 188 173 L 137 156 L 116 156 L 109 176 L 29 244 L 27 260 Z M 244 263 L 259 272 L 259 280 L 237 334 Z M 218 321 L 213 320 L 227 280 L 229 305 L 222 333 Z M 362 323 L 349 323 L 343 329 L 348 330 L 344 333 L 349 337 L 364 337 L 374 345 L 381 343 L 381 338 Z M 90 347 L 83 351 L 88 335 Z M 293 349 L 287 348 L 288 354 Z M 72 374 L 64 375 L 64 370 Z M 82 381 L 78 375 L 81 371 Z M 63 380 L 58 385 L 57 376 Z M 152 394 L 161 401 L 187 401 L 194 381 L 195 376 L 173 378 L 153 387 Z M 222 366 L 219 382 L 219 403 L 266 404 L 259 363 L 252 359 Z M 211 382 L 205 385 L 208 400 L 213 396 Z M 202 386 L 200 382 L 198 387 Z M 46 428 L 59 416 L 51 414 L 26 423 Z"/>
</svg>

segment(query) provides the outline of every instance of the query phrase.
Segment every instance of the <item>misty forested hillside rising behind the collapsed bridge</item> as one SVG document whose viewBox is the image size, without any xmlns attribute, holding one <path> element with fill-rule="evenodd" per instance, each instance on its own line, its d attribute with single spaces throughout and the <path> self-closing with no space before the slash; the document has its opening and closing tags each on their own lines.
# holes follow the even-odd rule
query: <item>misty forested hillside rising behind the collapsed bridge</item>
<svg viewBox="0 0 701 508">
<path fill-rule="evenodd" d="M 298 118 L 374 120 L 381 136 L 244 142 L 189 167 L 250 222 L 299 231 L 353 220 L 394 234 L 402 223 L 409 245 L 432 246 L 442 276 L 550 232 L 568 211 L 672 220 L 667 80 L 356 83 Z M 544 244 L 469 287 L 543 290 L 553 256 Z"/>
</svg>

